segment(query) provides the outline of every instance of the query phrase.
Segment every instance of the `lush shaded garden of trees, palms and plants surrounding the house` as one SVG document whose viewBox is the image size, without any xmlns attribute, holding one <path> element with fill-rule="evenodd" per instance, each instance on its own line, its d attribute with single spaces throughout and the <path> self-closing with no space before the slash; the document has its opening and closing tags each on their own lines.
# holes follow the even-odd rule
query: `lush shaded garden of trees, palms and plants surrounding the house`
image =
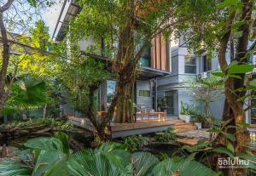
<svg viewBox="0 0 256 176">
<path fill-rule="evenodd" d="M 255 0 L 78 1 L 80 14 L 59 43 L 41 20 L 55 3 L 0 3 L 0 175 L 255 174 L 253 134 L 246 123 L 252 108 L 247 99 L 255 98 L 256 89 L 250 62 L 256 49 Z M 191 138 L 173 128 L 118 139 L 109 135 L 111 122 L 136 122 L 132 94 L 140 59 L 160 35 L 185 36 L 191 54 L 207 51 L 218 58 L 219 70 L 188 82 L 188 96 L 201 106 L 181 105 L 188 122 L 208 128 L 209 138 L 195 145 L 183 143 Z M 80 48 L 80 41 L 91 38 L 92 45 Z M 116 87 L 106 116 L 99 117 L 96 91 L 108 79 Z M 225 99 L 221 119 L 209 109 L 217 96 Z M 165 99 L 157 103 L 165 108 Z M 94 130 L 70 123 L 69 106 Z M 219 159 L 235 162 L 221 167 Z"/>
</svg>

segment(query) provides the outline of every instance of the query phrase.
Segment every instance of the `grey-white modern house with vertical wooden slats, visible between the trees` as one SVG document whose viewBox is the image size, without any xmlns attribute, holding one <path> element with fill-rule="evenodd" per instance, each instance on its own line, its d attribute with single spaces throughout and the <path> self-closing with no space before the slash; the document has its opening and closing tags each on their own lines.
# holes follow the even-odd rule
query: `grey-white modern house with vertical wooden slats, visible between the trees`
<svg viewBox="0 0 256 176">
<path fill-rule="evenodd" d="M 64 29 L 68 22 L 79 14 L 81 8 L 75 3 L 65 1 L 61 9 L 59 20 L 56 24 L 53 38 L 55 42 L 63 40 Z M 81 41 L 80 48 L 83 51 L 90 46 L 93 40 Z M 226 58 L 230 62 L 230 54 Z M 255 58 L 253 59 L 255 60 Z M 188 82 L 208 77 L 211 71 L 219 69 L 218 59 L 209 58 L 206 54 L 195 55 L 189 49 L 183 37 L 177 39 L 164 39 L 160 35 L 152 40 L 151 47 L 145 49 L 140 60 L 140 75 L 134 85 L 134 100 L 137 107 L 145 107 L 148 110 L 167 111 L 169 117 L 178 117 L 181 111 L 181 102 L 188 105 L 201 105 L 190 96 Z M 96 96 L 97 110 L 107 111 L 113 98 L 115 89 L 114 80 L 103 82 Z M 190 95 L 189 95 L 190 94 Z M 159 110 L 158 102 L 164 99 L 165 108 Z M 249 99 L 251 104 L 254 99 Z M 223 113 L 224 94 L 220 94 L 210 104 L 212 116 L 220 118 Z M 247 122 L 256 123 L 256 105 L 247 111 Z"/>
</svg>

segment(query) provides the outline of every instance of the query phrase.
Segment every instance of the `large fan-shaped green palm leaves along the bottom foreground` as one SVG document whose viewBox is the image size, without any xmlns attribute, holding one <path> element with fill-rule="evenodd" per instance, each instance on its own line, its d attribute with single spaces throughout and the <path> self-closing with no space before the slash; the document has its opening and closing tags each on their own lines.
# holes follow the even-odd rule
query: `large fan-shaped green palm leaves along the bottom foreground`
<svg viewBox="0 0 256 176">
<path fill-rule="evenodd" d="M 30 150 L 20 151 L 20 160 L 6 159 L 0 163 L 0 174 L 11 175 L 71 175 L 71 176 L 108 176 L 108 175 L 216 175 L 211 169 L 199 162 L 181 158 L 160 160 L 148 152 L 129 153 L 122 150 L 123 145 L 105 143 L 96 150 L 81 150 L 68 153 L 63 150 L 67 143 L 64 133 L 56 138 L 38 138 L 26 142 Z M 61 138 L 60 138 L 61 136 Z M 29 161 L 30 164 L 27 162 Z M 193 166 L 193 167 L 191 167 Z M 189 172 L 190 171 L 190 172 Z M 195 173 L 195 174 L 194 174 Z"/>
</svg>

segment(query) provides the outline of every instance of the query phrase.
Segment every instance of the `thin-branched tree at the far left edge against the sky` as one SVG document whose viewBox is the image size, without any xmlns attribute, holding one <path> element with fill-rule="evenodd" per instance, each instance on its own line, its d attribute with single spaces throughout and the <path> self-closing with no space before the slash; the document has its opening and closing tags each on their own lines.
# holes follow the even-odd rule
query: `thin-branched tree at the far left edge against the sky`
<svg viewBox="0 0 256 176">
<path fill-rule="evenodd" d="M 36 0 L 8 0 L 0 4 L 0 31 L 1 31 L 1 71 L 0 71 L 0 115 L 2 115 L 3 106 L 8 99 L 10 89 L 15 81 L 17 75 L 17 67 L 11 73 L 12 79 L 6 84 L 6 78 L 9 74 L 9 65 L 11 65 L 11 58 L 17 58 L 20 54 L 15 51 L 17 48 L 26 48 L 26 51 L 32 50 L 33 46 L 26 46 L 26 43 L 20 43 L 22 35 L 30 31 L 33 22 L 38 19 L 40 9 L 51 5 L 50 1 L 36 1 Z M 15 34 L 16 33 L 16 34 Z M 30 48 L 30 49 L 27 49 Z M 40 47 L 39 47 L 40 49 Z M 26 53 L 21 53 L 25 57 Z"/>
</svg>

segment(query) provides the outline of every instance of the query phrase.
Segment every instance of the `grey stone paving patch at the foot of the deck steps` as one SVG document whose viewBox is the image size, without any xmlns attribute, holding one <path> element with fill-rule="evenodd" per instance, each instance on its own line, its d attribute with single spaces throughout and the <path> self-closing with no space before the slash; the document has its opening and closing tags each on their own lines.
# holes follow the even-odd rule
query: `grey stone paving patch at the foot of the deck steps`
<svg viewBox="0 0 256 176">
<path fill-rule="evenodd" d="M 179 136 L 195 138 L 195 139 L 210 139 L 210 133 L 207 132 L 208 129 L 196 129 L 188 132 L 177 133 Z"/>
</svg>

